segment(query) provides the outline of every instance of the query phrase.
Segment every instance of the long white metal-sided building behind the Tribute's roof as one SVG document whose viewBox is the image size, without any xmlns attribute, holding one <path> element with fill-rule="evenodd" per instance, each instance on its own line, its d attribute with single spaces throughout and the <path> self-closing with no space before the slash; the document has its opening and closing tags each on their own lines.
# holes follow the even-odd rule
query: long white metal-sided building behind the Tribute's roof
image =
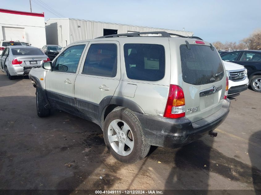
<svg viewBox="0 0 261 195">
<path fill-rule="evenodd" d="M 166 31 L 184 36 L 193 36 L 193 32 L 182 30 L 131 26 L 72 18 L 50 18 L 46 21 L 45 30 L 47 44 L 60 45 L 61 47 L 65 47 L 75 41 L 130 32 Z"/>
</svg>

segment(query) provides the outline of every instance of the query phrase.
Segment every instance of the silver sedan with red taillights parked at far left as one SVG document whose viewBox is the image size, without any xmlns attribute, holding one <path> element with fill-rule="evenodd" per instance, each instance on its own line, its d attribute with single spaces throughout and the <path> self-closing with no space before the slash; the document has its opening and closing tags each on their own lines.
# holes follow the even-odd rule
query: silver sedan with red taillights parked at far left
<svg viewBox="0 0 261 195">
<path fill-rule="evenodd" d="M 7 46 L 0 56 L 0 69 L 9 79 L 28 75 L 32 67 L 41 67 L 50 59 L 37 47 Z"/>
</svg>

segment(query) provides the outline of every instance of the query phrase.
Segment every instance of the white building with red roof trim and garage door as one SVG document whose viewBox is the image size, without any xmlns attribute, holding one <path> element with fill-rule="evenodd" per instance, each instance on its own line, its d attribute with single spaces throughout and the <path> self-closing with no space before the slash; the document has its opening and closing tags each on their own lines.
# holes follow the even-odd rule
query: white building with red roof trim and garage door
<svg viewBox="0 0 261 195">
<path fill-rule="evenodd" d="M 46 44 L 44 13 L 0 9 L 0 40 Z"/>
</svg>

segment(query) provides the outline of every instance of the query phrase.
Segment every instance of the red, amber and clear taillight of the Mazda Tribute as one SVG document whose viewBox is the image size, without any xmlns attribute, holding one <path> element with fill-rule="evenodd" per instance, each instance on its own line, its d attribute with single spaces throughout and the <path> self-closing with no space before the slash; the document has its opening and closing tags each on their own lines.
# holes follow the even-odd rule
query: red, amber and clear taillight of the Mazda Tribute
<svg viewBox="0 0 261 195">
<path fill-rule="evenodd" d="M 170 84 L 169 96 L 163 116 L 174 119 L 185 116 L 184 92 L 178 85 Z"/>
</svg>

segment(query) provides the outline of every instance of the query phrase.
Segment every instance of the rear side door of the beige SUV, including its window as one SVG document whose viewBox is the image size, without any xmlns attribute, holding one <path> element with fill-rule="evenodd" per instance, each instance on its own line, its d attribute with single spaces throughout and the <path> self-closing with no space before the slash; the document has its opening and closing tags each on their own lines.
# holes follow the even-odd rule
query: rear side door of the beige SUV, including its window
<svg viewBox="0 0 261 195">
<path fill-rule="evenodd" d="M 90 42 L 75 80 L 75 101 L 79 112 L 100 122 L 120 83 L 120 45 L 117 41 Z"/>
</svg>

